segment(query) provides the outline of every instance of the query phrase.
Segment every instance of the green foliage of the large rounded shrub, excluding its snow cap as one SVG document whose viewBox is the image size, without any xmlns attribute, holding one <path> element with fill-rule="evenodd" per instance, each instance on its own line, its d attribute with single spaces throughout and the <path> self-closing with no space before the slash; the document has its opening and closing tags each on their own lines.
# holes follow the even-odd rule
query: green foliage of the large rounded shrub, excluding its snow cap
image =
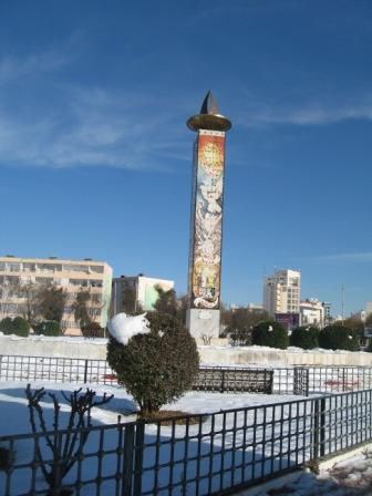
<svg viewBox="0 0 372 496">
<path fill-rule="evenodd" d="M 136 334 L 127 344 L 110 337 L 107 361 L 118 382 L 133 395 L 142 415 L 157 412 L 180 397 L 199 368 L 195 339 L 174 317 L 147 312 L 151 331 Z"/>
</svg>

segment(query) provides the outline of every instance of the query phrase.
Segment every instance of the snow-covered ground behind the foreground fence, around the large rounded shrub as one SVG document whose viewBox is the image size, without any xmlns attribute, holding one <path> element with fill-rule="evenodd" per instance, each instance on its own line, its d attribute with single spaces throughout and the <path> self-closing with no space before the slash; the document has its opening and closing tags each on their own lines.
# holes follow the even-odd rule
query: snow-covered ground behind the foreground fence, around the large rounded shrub
<svg viewBox="0 0 372 496">
<path fill-rule="evenodd" d="M 41 388 L 45 385 L 48 392 L 55 393 L 58 397 L 61 400 L 61 424 L 60 428 L 65 427 L 69 417 L 69 407 L 66 405 L 65 400 L 60 394 L 61 389 L 63 391 L 73 391 L 76 389 L 75 384 L 53 384 L 53 383 L 32 383 L 32 389 Z M 7 382 L 0 384 L 0 411 L 1 411 L 1 420 L 0 420 L 0 437 L 12 434 L 21 434 L 21 433 L 30 433 L 31 428 L 29 426 L 29 412 L 27 407 L 27 400 L 24 396 L 24 382 Z M 132 397 L 121 388 L 118 386 L 96 386 L 92 385 L 92 389 L 96 391 L 97 396 L 100 397 L 104 392 L 111 394 L 115 394 L 115 397 L 103 407 L 95 407 L 92 410 L 93 423 L 95 425 L 102 424 L 115 424 L 117 421 L 117 415 L 123 415 L 122 422 L 130 422 L 135 420 L 135 411 L 136 405 L 133 402 Z M 84 389 L 83 389 L 84 391 Z M 45 397 L 46 401 L 43 403 L 43 410 L 45 412 L 45 423 L 52 430 L 53 425 L 53 411 L 52 411 L 52 402 Z M 226 452 L 224 455 L 225 463 L 231 464 L 232 458 L 236 456 L 236 461 L 241 458 L 241 456 L 246 456 L 247 459 L 251 457 L 251 452 L 247 452 L 246 455 L 242 455 L 242 451 L 237 451 L 237 454 L 234 453 L 234 443 L 241 443 L 240 437 L 244 435 L 242 432 L 242 423 L 248 420 L 248 416 L 244 416 L 244 414 L 239 413 L 235 415 L 230 413 L 226 415 L 225 413 L 220 413 L 224 409 L 242 409 L 245 406 L 255 406 L 255 405 L 266 405 L 272 403 L 280 403 L 288 400 L 298 400 L 298 396 L 277 396 L 277 395 L 259 395 L 259 394 L 234 394 L 234 393 L 204 393 L 204 392 L 189 392 L 179 401 L 174 404 L 165 405 L 166 410 L 178 410 L 187 413 L 211 413 L 217 412 L 216 417 L 211 420 L 210 416 L 207 416 L 203 424 L 196 425 L 177 425 L 176 428 L 167 425 L 156 426 L 155 424 L 147 424 L 145 427 L 145 440 L 144 440 L 144 465 L 143 465 L 143 488 L 147 490 L 148 494 L 152 494 L 153 487 L 155 484 L 155 474 L 158 474 L 158 480 L 162 486 L 166 486 L 170 483 L 170 472 L 166 468 L 169 463 L 170 453 L 174 453 L 174 456 L 179 462 L 177 465 L 173 467 L 172 476 L 173 483 L 178 480 L 179 487 L 178 492 L 175 490 L 173 494 L 180 494 L 180 484 L 183 478 L 187 478 L 187 494 L 195 494 L 195 476 L 196 464 L 193 462 L 197 456 L 202 456 L 202 461 L 199 464 L 200 467 L 200 476 L 203 477 L 198 482 L 198 488 L 200 495 L 208 494 L 208 477 L 207 474 L 210 472 L 210 463 L 211 463 L 211 453 L 213 453 L 213 465 L 211 469 L 214 471 L 214 477 L 211 480 L 213 490 L 218 490 L 221 484 L 220 479 L 220 469 L 223 451 Z M 205 418 L 205 417 L 204 417 Z M 213 424 L 211 424 L 213 422 Z M 214 425 L 214 434 L 211 436 L 211 425 Z M 234 425 L 236 425 L 239 430 L 237 431 L 237 435 L 234 431 Z M 249 416 L 249 435 L 247 434 L 247 438 L 252 438 L 254 436 L 254 418 Z M 277 427 L 279 428 L 279 426 Z M 173 431 L 174 430 L 174 431 Z M 187 431 L 186 431 L 187 430 Z M 226 432 L 225 432 L 226 430 Z M 262 431 L 262 430 L 261 430 Z M 185 434 L 188 432 L 187 442 L 185 441 Z M 85 453 L 95 453 L 99 445 L 99 432 L 95 431 L 91 433 Z M 260 434 L 262 435 L 262 433 Z M 104 446 L 105 448 L 113 448 L 117 444 L 117 426 L 114 427 L 108 426 L 108 431 L 106 431 L 104 436 Z M 203 436 L 203 437 L 199 437 Z M 172 441 L 172 438 L 174 441 Z M 257 435 L 257 440 L 259 438 L 259 434 Z M 157 444 L 158 440 L 162 443 Z M 211 448 L 211 440 L 213 440 L 213 448 Z M 239 441 L 238 441 L 239 440 Z M 8 446 L 7 442 L 6 445 Z M 19 440 L 16 442 L 16 463 L 18 464 L 18 468 L 12 474 L 11 484 L 12 492 L 10 493 L 12 496 L 19 494 L 28 494 L 30 490 L 30 476 L 22 469 L 22 464 L 29 464 L 33 456 L 33 447 L 32 443 L 29 440 Z M 185 450 L 187 452 L 188 463 L 182 462 L 185 456 Z M 211 450 L 211 451 L 210 451 Z M 258 450 L 259 452 L 259 450 Z M 271 448 L 270 448 L 271 452 Z M 156 454 L 157 453 L 157 454 Z M 45 452 L 48 456 L 48 453 Z M 231 458 L 232 457 L 232 458 Z M 261 458 L 261 454 L 258 453 L 257 457 Z M 155 467 L 154 462 L 157 459 L 157 463 L 161 464 L 164 468 L 159 472 L 158 468 Z M 116 494 L 114 488 L 115 479 L 112 475 L 114 467 L 116 466 L 116 457 L 115 452 L 112 452 L 110 456 L 105 456 L 103 461 L 103 473 L 106 477 L 108 477 L 105 482 L 105 486 L 102 487 L 104 489 L 104 494 Z M 270 471 L 270 463 L 262 462 L 265 465 L 265 471 Z M 225 466 L 225 471 L 227 469 Z M 232 466 L 231 466 L 232 467 Z M 257 473 L 261 469 L 257 465 Z M 23 472 L 22 472 L 23 471 Z M 230 468 L 227 474 L 224 475 L 224 487 L 228 487 L 231 484 L 231 471 Z M 96 476 L 96 458 L 87 457 L 83 461 L 83 473 L 85 480 L 94 480 Z M 239 471 L 241 476 L 241 469 Z M 66 483 L 73 484 L 75 480 L 74 472 L 72 471 L 66 476 Z M 44 482 L 41 475 L 38 475 L 39 484 L 44 486 Z M 6 483 L 4 475 L 0 472 L 0 494 L 1 488 L 3 488 Z M 93 492 L 92 492 L 93 490 Z M 164 492 L 159 492 L 159 494 L 168 494 L 167 489 Z M 92 486 L 84 486 L 80 493 L 82 496 L 90 496 L 95 494 L 95 490 Z M 102 493 L 103 494 L 103 493 Z"/>
</svg>

